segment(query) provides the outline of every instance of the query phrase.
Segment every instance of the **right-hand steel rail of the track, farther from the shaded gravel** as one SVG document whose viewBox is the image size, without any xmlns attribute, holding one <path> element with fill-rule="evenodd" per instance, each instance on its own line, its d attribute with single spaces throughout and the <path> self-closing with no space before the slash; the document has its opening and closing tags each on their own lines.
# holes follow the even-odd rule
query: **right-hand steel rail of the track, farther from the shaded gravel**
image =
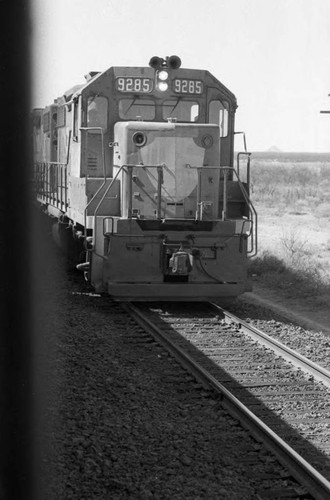
<svg viewBox="0 0 330 500">
<path fill-rule="evenodd" d="M 324 385 L 330 387 L 330 372 L 328 370 L 305 358 L 298 352 L 293 351 L 292 349 L 290 349 L 290 347 L 281 344 L 281 342 L 279 342 L 278 340 L 273 339 L 266 333 L 258 330 L 258 328 L 255 328 L 249 323 L 246 323 L 242 319 L 226 311 L 217 304 L 211 303 L 211 305 L 224 315 L 226 323 L 237 324 L 239 329 L 249 335 L 251 338 L 258 340 L 258 342 L 263 344 L 265 347 L 269 347 L 284 359 L 291 362 L 297 368 L 301 368 L 305 372 L 308 372 L 317 380 L 323 382 Z"/>
</svg>

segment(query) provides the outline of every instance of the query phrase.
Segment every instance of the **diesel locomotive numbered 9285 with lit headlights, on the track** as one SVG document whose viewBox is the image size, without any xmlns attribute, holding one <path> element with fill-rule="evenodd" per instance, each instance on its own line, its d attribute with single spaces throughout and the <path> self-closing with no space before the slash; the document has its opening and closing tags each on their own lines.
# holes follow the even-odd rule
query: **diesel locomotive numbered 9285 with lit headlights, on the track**
<svg viewBox="0 0 330 500">
<path fill-rule="evenodd" d="M 85 78 L 32 116 L 36 198 L 78 269 L 116 300 L 249 290 L 257 215 L 250 153 L 234 167 L 235 96 L 177 56 Z"/>
</svg>

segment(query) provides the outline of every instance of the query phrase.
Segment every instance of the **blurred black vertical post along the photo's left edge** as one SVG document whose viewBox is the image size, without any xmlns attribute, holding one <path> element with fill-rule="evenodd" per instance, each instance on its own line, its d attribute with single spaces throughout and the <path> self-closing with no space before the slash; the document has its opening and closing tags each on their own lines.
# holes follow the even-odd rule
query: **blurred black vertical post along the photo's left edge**
<svg viewBox="0 0 330 500">
<path fill-rule="evenodd" d="M 31 151 L 28 0 L 0 5 L 0 498 L 32 500 Z"/>
</svg>

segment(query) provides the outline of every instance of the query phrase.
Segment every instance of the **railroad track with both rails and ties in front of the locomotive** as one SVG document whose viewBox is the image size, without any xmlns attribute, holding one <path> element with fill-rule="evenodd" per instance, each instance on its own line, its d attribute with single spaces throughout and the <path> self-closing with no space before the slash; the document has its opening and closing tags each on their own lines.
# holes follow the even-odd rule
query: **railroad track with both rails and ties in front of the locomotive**
<svg viewBox="0 0 330 500">
<path fill-rule="evenodd" d="M 313 498 L 330 498 L 329 372 L 213 304 L 125 307 Z"/>
</svg>

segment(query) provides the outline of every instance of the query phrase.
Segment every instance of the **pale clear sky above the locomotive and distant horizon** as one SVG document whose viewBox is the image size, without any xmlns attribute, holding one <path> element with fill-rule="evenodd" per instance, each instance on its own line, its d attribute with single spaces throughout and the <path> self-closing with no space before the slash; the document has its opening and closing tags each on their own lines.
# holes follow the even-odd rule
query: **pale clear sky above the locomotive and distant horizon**
<svg viewBox="0 0 330 500">
<path fill-rule="evenodd" d="M 330 0 L 31 0 L 31 24 L 32 107 L 175 54 L 236 95 L 248 150 L 330 152 Z"/>
</svg>

